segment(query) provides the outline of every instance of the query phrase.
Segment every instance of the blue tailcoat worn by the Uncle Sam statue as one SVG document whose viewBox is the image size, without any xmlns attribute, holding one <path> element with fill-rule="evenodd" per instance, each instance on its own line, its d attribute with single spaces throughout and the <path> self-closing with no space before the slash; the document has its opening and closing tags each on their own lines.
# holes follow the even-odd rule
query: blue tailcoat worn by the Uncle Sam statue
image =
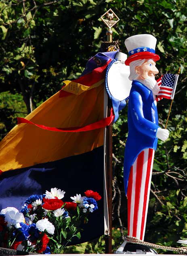
<svg viewBox="0 0 187 256">
<path fill-rule="evenodd" d="M 128 137 L 124 156 L 124 186 L 127 193 L 130 167 L 143 149 L 157 147 L 158 113 L 153 93 L 139 81 L 132 81 L 128 101 Z"/>
</svg>

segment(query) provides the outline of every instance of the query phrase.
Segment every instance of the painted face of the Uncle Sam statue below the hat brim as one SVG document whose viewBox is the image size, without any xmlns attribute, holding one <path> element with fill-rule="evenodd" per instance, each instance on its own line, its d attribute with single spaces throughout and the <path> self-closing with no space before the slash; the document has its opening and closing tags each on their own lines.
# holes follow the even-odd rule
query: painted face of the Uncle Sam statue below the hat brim
<svg viewBox="0 0 187 256">
<path fill-rule="evenodd" d="M 136 66 L 135 71 L 139 75 L 138 79 L 155 78 L 155 74 L 158 74 L 154 60 L 145 60 L 141 66 Z"/>
</svg>

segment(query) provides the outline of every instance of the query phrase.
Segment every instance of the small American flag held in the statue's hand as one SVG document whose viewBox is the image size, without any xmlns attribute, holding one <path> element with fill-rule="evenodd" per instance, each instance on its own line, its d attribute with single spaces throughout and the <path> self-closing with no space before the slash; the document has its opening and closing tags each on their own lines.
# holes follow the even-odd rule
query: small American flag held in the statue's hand
<svg viewBox="0 0 187 256">
<path fill-rule="evenodd" d="M 156 101 L 162 100 L 163 98 L 169 100 L 172 100 L 174 98 L 178 77 L 179 75 L 166 74 L 162 75 L 162 77 L 157 80 L 160 91 L 158 93 Z"/>
</svg>

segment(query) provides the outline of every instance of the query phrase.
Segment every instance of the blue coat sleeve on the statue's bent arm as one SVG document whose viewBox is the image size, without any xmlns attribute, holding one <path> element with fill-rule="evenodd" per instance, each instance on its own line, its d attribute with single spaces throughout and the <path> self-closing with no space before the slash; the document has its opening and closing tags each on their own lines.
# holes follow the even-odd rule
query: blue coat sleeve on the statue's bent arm
<svg viewBox="0 0 187 256">
<path fill-rule="evenodd" d="M 132 121 L 134 123 L 134 126 L 137 128 L 137 130 L 139 130 L 139 132 L 149 137 L 155 138 L 159 126 L 145 119 L 143 115 L 143 102 L 139 92 L 132 92 L 130 101 L 130 113 L 132 115 Z"/>
</svg>

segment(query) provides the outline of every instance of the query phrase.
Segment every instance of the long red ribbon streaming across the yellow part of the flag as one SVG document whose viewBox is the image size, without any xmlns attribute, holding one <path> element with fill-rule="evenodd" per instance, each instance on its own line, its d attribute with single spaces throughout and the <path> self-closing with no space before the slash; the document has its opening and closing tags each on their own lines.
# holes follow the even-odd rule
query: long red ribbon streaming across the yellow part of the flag
<svg viewBox="0 0 187 256">
<path fill-rule="evenodd" d="M 22 117 L 17 117 L 17 124 L 33 124 L 35 126 L 38 126 L 41 129 L 52 131 L 52 132 L 86 132 L 86 131 L 91 131 L 91 130 L 96 130 L 99 128 L 103 128 L 105 126 L 109 126 L 111 122 L 113 122 L 115 115 L 113 114 L 113 109 L 111 108 L 110 111 L 110 116 L 105 117 L 95 123 L 88 124 L 86 126 L 78 126 L 78 127 L 67 127 L 67 128 L 56 128 L 56 127 L 48 127 L 44 126 L 42 124 L 34 124 L 33 122 L 22 118 Z"/>
</svg>

